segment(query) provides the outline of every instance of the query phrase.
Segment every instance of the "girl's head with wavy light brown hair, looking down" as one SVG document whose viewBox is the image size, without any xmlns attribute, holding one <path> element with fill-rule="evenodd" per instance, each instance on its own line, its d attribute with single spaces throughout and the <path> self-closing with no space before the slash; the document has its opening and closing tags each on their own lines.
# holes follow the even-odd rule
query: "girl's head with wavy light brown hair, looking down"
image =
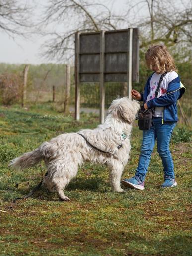
<svg viewBox="0 0 192 256">
<path fill-rule="evenodd" d="M 151 45 L 145 53 L 147 66 L 157 74 L 178 71 L 165 45 Z"/>
</svg>

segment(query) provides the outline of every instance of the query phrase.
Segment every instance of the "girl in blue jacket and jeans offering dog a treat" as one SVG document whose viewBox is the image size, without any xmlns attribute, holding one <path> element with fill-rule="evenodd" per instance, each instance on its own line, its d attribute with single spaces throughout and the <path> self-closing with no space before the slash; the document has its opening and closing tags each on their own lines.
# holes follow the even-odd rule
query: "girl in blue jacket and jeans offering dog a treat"
<svg viewBox="0 0 192 256">
<path fill-rule="evenodd" d="M 157 151 L 161 157 L 164 171 L 164 183 L 161 187 L 177 185 L 174 176 L 173 160 L 169 150 L 171 134 L 178 120 L 176 101 L 181 98 L 185 88 L 176 73 L 174 60 L 164 45 L 152 45 L 145 54 L 147 66 L 154 71 L 148 78 L 144 93 L 132 90 L 133 98 L 143 101 L 144 108 L 155 108 L 152 126 L 143 130 L 143 142 L 135 176 L 124 179 L 123 185 L 144 190 L 144 180 L 149 166 L 151 153 L 157 140 Z M 161 74 L 165 73 L 157 98 L 157 88 Z"/>
</svg>

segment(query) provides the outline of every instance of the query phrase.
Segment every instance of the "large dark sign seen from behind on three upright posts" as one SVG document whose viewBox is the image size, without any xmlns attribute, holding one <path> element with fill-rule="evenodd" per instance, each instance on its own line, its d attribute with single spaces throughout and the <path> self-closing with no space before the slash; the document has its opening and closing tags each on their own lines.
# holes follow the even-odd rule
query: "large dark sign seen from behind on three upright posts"
<svg viewBox="0 0 192 256">
<path fill-rule="evenodd" d="M 80 83 L 100 83 L 100 122 L 105 118 L 105 82 L 139 81 L 138 28 L 75 34 L 75 119 L 80 118 Z"/>
</svg>

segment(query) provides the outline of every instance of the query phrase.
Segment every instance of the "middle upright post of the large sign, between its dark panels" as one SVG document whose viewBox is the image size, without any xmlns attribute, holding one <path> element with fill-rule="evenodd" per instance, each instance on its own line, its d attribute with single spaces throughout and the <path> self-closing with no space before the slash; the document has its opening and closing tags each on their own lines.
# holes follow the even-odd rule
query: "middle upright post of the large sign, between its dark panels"
<svg viewBox="0 0 192 256">
<path fill-rule="evenodd" d="M 100 34 L 100 123 L 104 123 L 105 120 L 105 88 L 104 88 L 104 69 L 105 69 L 105 31 L 101 31 Z"/>
</svg>

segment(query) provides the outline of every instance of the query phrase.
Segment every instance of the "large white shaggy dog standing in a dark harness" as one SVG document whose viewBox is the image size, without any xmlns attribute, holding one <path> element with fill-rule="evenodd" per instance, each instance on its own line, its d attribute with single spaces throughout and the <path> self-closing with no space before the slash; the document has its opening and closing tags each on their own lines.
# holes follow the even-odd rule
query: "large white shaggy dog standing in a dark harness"
<svg viewBox="0 0 192 256">
<path fill-rule="evenodd" d="M 130 135 L 135 115 L 140 109 L 136 100 L 127 97 L 114 100 L 109 107 L 104 124 L 96 129 L 80 130 L 88 142 L 102 151 L 91 147 L 78 133 L 64 133 L 42 143 L 37 149 L 11 160 L 15 169 L 24 169 L 44 160 L 48 174 L 44 184 L 48 190 L 56 189 L 60 200 L 68 201 L 63 189 L 77 175 L 78 167 L 85 161 L 109 167 L 109 177 L 114 191 L 120 187 L 121 175 L 130 153 Z M 126 136 L 125 136 L 126 135 Z M 123 144 L 118 149 L 118 145 Z"/>
</svg>

